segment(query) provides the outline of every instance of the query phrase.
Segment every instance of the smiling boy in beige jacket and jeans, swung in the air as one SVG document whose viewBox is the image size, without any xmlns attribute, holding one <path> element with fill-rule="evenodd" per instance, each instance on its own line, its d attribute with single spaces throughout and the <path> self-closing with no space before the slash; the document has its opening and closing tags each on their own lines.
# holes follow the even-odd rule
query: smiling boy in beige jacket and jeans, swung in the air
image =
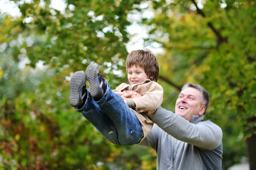
<svg viewBox="0 0 256 170">
<path fill-rule="evenodd" d="M 86 118 L 108 141 L 121 146 L 140 143 L 151 131 L 148 118 L 163 101 L 163 88 L 156 83 L 159 67 L 153 53 L 132 51 L 126 60 L 130 84 L 122 83 L 111 91 L 110 85 L 90 64 L 85 73 L 75 72 L 70 79 L 70 105 Z M 85 81 L 89 82 L 90 92 Z M 125 101 L 115 92 L 134 90 L 142 95 Z"/>
</svg>

